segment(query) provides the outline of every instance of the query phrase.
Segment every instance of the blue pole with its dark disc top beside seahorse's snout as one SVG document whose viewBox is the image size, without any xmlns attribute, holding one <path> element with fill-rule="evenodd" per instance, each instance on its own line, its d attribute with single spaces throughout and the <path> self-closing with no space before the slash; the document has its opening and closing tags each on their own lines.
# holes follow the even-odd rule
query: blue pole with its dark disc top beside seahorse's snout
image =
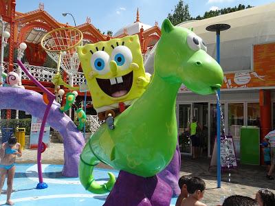
<svg viewBox="0 0 275 206">
<path fill-rule="evenodd" d="M 217 38 L 217 62 L 220 63 L 220 56 L 219 56 L 219 45 L 220 45 L 220 34 L 221 31 L 225 31 L 230 29 L 230 25 L 225 23 L 218 23 L 214 25 L 209 25 L 206 27 L 206 30 L 209 32 L 216 32 Z M 217 91 L 219 100 L 220 97 L 220 90 Z M 217 187 L 221 188 L 221 110 L 219 107 L 219 102 L 217 100 Z"/>
</svg>

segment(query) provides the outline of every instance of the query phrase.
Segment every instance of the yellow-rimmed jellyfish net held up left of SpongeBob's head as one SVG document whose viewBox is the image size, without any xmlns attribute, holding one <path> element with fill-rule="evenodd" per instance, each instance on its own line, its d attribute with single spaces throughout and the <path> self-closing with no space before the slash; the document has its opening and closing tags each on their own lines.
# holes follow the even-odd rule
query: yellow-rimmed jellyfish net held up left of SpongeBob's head
<svg viewBox="0 0 275 206">
<path fill-rule="evenodd" d="M 60 67 L 69 75 L 77 73 L 80 61 L 76 46 L 82 45 L 82 40 L 82 32 L 74 27 L 58 28 L 43 36 L 41 46 L 57 63 L 56 75 L 59 75 Z"/>
</svg>

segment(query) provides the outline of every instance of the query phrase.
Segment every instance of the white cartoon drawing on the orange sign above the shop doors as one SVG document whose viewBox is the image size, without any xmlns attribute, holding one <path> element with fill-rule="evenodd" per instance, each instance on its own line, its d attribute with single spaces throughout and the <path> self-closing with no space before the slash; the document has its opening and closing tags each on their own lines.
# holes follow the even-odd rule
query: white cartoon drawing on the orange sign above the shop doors
<svg viewBox="0 0 275 206">
<path fill-rule="evenodd" d="M 237 72 L 234 74 L 234 83 L 237 84 L 237 87 L 232 87 L 232 82 L 230 79 L 227 79 L 225 76 L 223 78 L 226 87 L 227 88 L 238 88 L 238 87 L 247 87 L 247 84 L 250 82 L 251 80 L 251 75 L 253 75 L 256 78 L 259 78 L 260 80 L 265 80 L 263 79 L 265 76 L 259 76 L 258 73 L 256 72 Z"/>
</svg>

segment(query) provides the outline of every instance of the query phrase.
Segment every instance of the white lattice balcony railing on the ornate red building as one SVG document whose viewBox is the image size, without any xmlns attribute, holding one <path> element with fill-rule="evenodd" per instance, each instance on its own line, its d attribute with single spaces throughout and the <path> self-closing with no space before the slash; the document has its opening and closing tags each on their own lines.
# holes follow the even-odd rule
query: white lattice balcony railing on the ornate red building
<svg viewBox="0 0 275 206">
<path fill-rule="evenodd" d="M 3 62 L 4 72 L 8 73 L 8 62 Z M 24 64 L 25 65 L 25 64 Z M 18 64 L 14 63 L 13 71 L 17 72 Z M 56 73 L 56 69 L 50 67 L 39 67 L 34 65 L 25 65 L 25 67 L 30 71 L 32 76 L 39 80 L 39 82 L 52 82 L 52 78 Z M 61 75 L 63 71 L 61 70 Z M 22 80 L 30 80 L 28 76 L 22 71 Z M 69 76 L 67 76 L 66 82 L 69 83 Z M 85 76 L 83 72 L 78 72 L 74 76 L 74 85 L 79 85 L 85 83 Z"/>
</svg>

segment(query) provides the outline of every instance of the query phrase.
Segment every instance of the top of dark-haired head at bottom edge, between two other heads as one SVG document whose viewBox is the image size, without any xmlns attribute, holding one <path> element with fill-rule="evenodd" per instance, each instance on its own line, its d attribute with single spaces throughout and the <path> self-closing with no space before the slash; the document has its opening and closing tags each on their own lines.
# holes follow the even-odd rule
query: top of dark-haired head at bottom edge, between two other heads
<svg viewBox="0 0 275 206">
<path fill-rule="evenodd" d="M 248 197 L 248 196 L 241 196 L 241 195 L 232 195 L 228 198 L 225 198 L 222 206 L 259 206 L 258 203 Z"/>
</svg>

